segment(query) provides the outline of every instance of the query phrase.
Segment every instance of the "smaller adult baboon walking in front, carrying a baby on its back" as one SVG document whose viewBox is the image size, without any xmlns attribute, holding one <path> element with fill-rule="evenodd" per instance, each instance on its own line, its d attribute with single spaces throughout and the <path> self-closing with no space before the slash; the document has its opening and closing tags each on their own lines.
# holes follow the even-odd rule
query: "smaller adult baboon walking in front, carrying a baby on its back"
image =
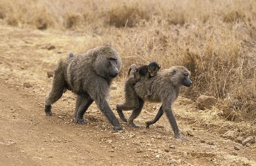
<svg viewBox="0 0 256 166">
<path fill-rule="evenodd" d="M 159 118 L 166 114 L 176 138 L 183 139 L 180 136 L 179 129 L 172 113 L 173 102 L 177 99 L 180 93 L 181 85 L 190 87 L 192 82 L 189 79 L 190 72 L 183 66 L 173 66 L 169 69 L 163 69 L 156 76 L 145 81 L 145 77 L 141 77 L 140 81 L 135 84 L 134 90 L 125 89 L 125 102 L 116 106 L 119 117 L 123 121 L 127 121 L 122 110 L 133 110 L 128 122 L 133 127 L 138 127 L 134 124 L 134 119 L 140 115 L 145 100 L 162 102 L 156 116 L 152 121 L 147 121 L 147 128 L 150 124 L 154 124 Z M 127 82 L 129 79 L 127 79 Z M 146 87 L 151 87 L 151 98 L 147 98 Z M 120 107 L 121 106 L 121 107 Z M 125 108 L 125 109 L 124 109 Z"/>
</svg>

